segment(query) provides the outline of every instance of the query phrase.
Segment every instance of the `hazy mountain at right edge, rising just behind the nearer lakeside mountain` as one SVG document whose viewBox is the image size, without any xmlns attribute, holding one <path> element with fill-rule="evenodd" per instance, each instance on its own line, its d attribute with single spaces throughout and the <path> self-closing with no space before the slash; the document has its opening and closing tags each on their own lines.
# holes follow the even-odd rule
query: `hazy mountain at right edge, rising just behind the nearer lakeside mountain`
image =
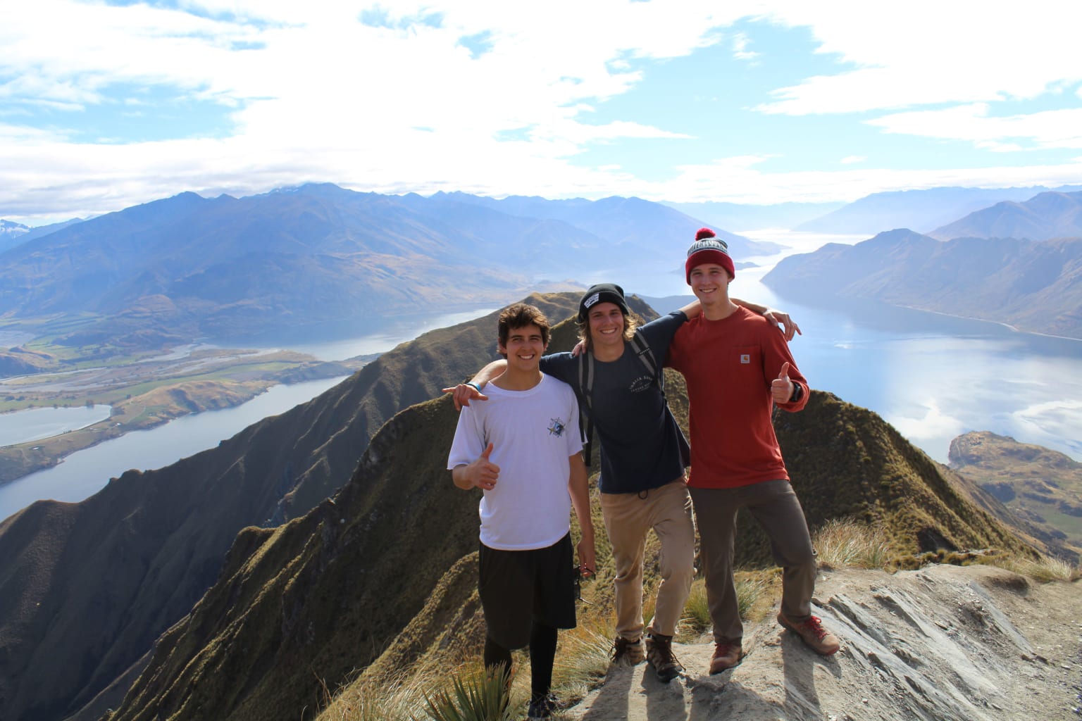
<svg viewBox="0 0 1082 721">
<path fill-rule="evenodd" d="M 939 240 L 952 238 L 1052 238 L 1082 237 L 1082 192 L 1042 192 L 1022 203 L 1003 201 L 969 213 L 928 233 Z"/>
</svg>

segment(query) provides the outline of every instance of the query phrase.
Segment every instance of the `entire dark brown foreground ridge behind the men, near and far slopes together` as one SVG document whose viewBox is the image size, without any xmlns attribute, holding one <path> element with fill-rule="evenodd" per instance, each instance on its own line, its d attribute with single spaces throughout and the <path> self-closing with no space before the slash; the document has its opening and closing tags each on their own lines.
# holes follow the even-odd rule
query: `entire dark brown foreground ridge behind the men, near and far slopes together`
<svg viewBox="0 0 1082 721">
<path fill-rule="evenodd" d="M 555 321 L 578 294 L 528 301 Z M 215 449 L 0 523 L 0 717 L 299 718 L 321 683 L 475 647 L 476 497 L 445 470 L 439 388 L 493 357 L 494 326 L 433 331 Z M 1050 549 L 874 413 L 816 392 L 776 428 L 813 528 L 859 519 L 898 553 Z M 738 560 L 771 564 L 742 528 Z"/>
</svg>

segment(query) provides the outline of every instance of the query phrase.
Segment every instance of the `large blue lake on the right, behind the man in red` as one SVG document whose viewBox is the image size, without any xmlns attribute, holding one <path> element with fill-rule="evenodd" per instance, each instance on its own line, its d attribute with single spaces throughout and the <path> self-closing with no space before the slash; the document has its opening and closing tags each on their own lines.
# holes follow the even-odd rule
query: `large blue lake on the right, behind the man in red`
<svg viewBox="0 0 1082 721">
<path fill-rule="evenodd" d="M 940 463 L 947 463 L 951 440 L 971 430 L 1011 436 L 1082 460 L 1082 341 L 870 301 L 809 307 L 780 297 L 763 285 L 763 276 L 794 251 L 810 252 L 824 242 L 853 244 L 867 236 L 743 235 L 789 248 L 748 258 L 756 267 L 742 268 L 738 259 L 730 294 L 780 308 L 796 320 L 804 334 L 790 347 L 813 389 L 875 411 Z M 670 299 L 673 308 L 694 297 L 682 257 L 668 268 L 617 278 L 595 273 L 589 281 L 615 281 L 651 297 L 679 296 Z"/>
</svg>

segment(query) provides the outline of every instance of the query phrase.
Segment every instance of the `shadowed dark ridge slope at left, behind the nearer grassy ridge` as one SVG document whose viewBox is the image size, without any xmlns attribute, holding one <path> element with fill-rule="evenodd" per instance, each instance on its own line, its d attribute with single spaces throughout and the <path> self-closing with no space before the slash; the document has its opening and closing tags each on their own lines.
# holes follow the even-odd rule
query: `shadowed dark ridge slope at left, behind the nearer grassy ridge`
<svg viewBox="0 0 1082 721">
<path fill-rule="evenodd" d="M 531 297 L 554 318 L 577 294 Z M 421 336 L 313 401 L 80 504 L 0 523 L 0 718 L 60 719 L 102 696 L 217 577 L 237 532 L 301 516 L 348 480 L 395 412 L 494 357 L 494 319 Z"/>
</svg>

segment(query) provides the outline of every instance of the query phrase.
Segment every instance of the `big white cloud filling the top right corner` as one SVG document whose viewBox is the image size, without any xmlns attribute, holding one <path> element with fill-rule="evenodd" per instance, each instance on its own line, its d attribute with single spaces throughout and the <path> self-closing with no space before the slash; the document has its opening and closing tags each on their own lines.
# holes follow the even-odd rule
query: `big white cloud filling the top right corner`
<svg viewBox="0 0 1082 721">
<path fill-rule="evenodd" d="M 766 112 L 860 112 L 1033 98 L 1082 82 L 1082 4 L 1035 0 L 771 3 L 771 19 L 807 26 L 850 68 L 775 92 Z"/>
</svg>

